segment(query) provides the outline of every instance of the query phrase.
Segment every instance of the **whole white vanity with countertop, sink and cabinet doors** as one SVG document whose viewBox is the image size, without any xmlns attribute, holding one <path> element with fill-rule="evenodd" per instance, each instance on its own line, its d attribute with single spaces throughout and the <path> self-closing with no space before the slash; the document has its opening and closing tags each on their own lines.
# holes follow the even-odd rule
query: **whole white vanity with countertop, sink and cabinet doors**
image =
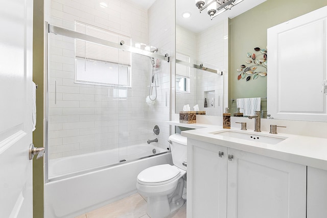
<svg viewBox="0 0 327 218">
<path fill-rule="evenodd" d="M 219 126 L 182 135 L 188 218 L 326 217 L 327 138 Z"/>
</svg>

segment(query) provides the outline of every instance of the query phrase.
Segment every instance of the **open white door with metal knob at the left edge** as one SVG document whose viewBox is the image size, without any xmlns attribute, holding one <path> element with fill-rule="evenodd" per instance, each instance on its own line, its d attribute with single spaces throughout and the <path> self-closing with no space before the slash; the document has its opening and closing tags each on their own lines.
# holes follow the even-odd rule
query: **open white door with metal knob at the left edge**
<svg viewBox="0 0 327 218">
<path fill-rule="evenodd" d="M 30 218 L 33 0 L 0 6 L 0 217 Z"/>
</svg>

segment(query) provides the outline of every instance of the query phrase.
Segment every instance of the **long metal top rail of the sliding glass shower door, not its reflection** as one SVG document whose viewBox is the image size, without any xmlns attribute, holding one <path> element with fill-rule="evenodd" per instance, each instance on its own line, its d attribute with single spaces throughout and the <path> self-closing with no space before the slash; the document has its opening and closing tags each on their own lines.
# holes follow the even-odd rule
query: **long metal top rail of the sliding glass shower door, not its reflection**
<svg viewBox="0 0 327 218">
<path fill-rule="evenodd" d="M 148 56 L 148 57 L 152 57 L 152 58 L 157 58 L 157 59 L 161 59 L 161 60 L 165 60 L 167 62 L 170 61 L 170 57 L 168 54 L 166 55 L 159 55 L 156 53 L 152 53 L 152 52 L 148 52 L 145 50 L 141 50 L 141 49 L 137 49 L 136 47 L 133 46 L 129 46 L 129 45 L 125 45 L 124 43 L 121 42 L 111 42 L 105 39 L 100 39 L 94 36 L 89 36 L 83 33 L 78 33 L 72 30 L 67 30 L 61 27 L 57 27 L 57 26 L 53 26 L 49 24 L 49 33 L 54 33 L 54 34 L 58 34 L 58 35 L 62 35 L 62 36 L 66 36 L 69 38 L 76 38 L 76 39 L 82 39 L 85 41 L 89 41 L 89 42 L 94 42 L 97 44 L 102 44 L 102 45 L 106 45 L 109 47 L 113 47 L 115 49 L 119 49 L 119 50 L 123 50 L 126 52 L 131 52 L 131 53 L 135 53 L 135 54 L 139 54 L 139 55 L 144 55 L 144 56 Z"/>
</svg>

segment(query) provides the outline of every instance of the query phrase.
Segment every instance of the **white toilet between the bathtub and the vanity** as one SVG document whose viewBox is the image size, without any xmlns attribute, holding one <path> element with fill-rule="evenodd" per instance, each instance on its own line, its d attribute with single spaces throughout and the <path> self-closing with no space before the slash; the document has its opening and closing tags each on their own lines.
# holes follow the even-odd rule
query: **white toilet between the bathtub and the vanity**
<svg viewBox="0 0 327 218">
<path fill-rule="evenodd" d="M 144 169 L 137 176 L 137 191 L 148 197 L 147 213 L 151 218 L 164 218 L 184 204 L 186 178 L 186 137 L 169 136 L 173 164 L 161 164 Z"/>
</svg>

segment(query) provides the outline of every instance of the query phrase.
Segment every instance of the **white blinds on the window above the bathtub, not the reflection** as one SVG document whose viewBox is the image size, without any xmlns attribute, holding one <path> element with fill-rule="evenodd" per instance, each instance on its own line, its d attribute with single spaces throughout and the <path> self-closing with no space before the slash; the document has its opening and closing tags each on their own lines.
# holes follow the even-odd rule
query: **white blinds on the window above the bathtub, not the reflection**
<svg viewBox="0 0 327 218">
<path fill-rule="evenodd" d="M 131 38 L 128 36 L 88 26 L 84 23 L 75 22 L 75 31 L 89 36 L 94 36 L 97 38 L 112 41 L 115 43 L 119 43 L 121 40 L 124 40 L 126 45 L 131 45 Z M 76 39 L 75 50 L 76 57 L 79 58 L 107 61 L 128 66 L 131 65 L 130 52 L 121 51 L 109 46 Z"/>
</svg>

